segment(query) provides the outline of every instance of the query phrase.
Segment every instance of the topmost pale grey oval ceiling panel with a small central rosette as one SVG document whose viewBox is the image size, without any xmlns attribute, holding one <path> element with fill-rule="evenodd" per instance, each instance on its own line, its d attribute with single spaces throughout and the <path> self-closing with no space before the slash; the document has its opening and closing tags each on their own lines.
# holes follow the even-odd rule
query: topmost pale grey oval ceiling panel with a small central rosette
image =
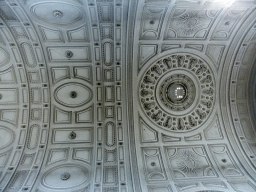
<svg viewBox="0 0 256 192">
<path fill-rule="evenodd" d="M 40 3 L 33 5 L 30 11 L 37 19 L 57 25 L 76 23 L 83 18 L 83 13 L 77 6 L 67 3 Z"/>
</svg>

